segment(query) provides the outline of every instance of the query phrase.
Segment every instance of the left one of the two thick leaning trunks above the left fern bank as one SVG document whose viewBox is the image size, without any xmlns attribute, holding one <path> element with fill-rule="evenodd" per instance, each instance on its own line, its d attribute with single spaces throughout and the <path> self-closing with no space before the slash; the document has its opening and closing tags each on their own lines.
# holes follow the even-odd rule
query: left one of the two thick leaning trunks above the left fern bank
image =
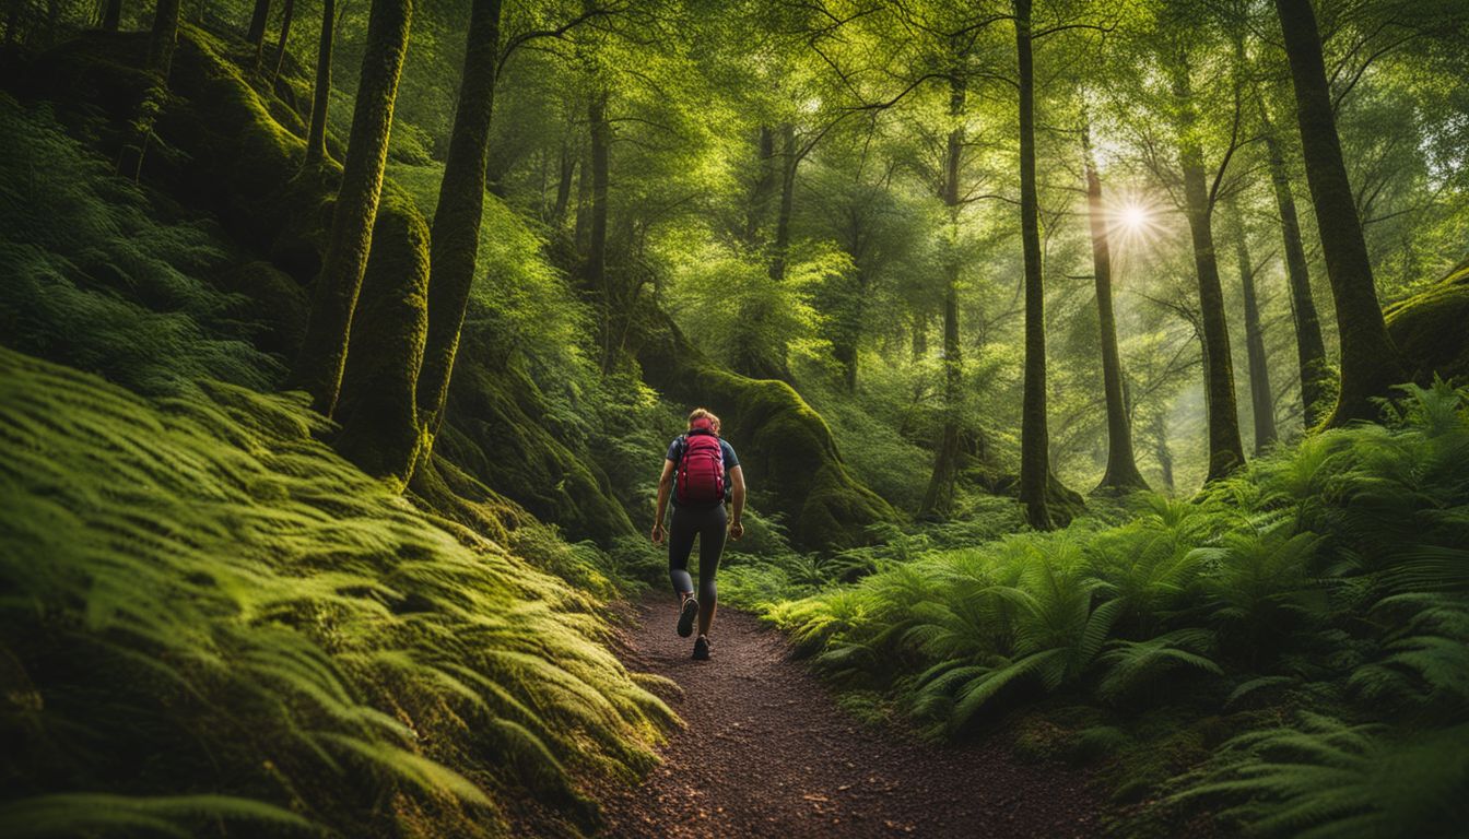
<svg viewBox="0 0 1469 839">
<path fill-rule="evenodd" d="M 311 395 L 313 407 L 326 416 L 336 410 L 341 394 L 353 312 L 372 248 L 411 13 L 413 0 L 373 0 L 367 24 L 342 187 L 336 194 L 326 257 L 316 279 L 311 317 L 294 373 L 295 384 Z"/>
</svg>

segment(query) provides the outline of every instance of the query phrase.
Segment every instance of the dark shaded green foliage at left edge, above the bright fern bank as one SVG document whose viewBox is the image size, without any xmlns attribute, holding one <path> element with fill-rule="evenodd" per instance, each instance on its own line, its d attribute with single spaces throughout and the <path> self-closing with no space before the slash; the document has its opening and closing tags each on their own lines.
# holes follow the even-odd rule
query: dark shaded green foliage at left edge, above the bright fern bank
<svg viewBox="0 0 1469 839">
<path fill-rule="evenodd" d="M 197 376 L 269 386 L 244 300 L 206 276 L 228 245 L 207 222 L 165 220 L 134 184 L 66 137 L 44 107 L 0 94 L 0 332 L 144 392 Z"/>
</svg>

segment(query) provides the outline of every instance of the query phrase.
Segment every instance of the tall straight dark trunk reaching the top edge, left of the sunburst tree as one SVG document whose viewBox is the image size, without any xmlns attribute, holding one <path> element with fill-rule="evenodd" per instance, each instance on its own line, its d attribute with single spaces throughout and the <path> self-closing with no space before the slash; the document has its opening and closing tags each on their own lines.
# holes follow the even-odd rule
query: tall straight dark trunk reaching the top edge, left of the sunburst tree
<svg viewBox="0 0 1469 839">
<path fill-rule="evenodd" d="M 1015 0 L 1015 60 L 1019 100 L 1019 238 L 1025 263 L 1025 392 L 1019 432 L 1019 500 L 1037 530 L 1066 523 L 1080 498 L 1050 472 L 1046 423 L 1046 284 L 1040 257 L 1040 204 L 1036 194 L 1036 68 L 1031 0 Z"/>
</svg>

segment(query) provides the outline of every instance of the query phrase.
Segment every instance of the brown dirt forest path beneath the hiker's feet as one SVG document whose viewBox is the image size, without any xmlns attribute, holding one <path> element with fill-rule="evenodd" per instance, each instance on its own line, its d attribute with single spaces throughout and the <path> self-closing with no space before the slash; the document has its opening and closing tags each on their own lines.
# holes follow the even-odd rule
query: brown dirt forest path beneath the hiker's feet
<svg viewBox="0 0 1469 839">
<path fill-rule="evenodd" d="M 1089 836 L 1080 773 L 1017 763 L 996 743 L 940 748 L 864 726 L 754 616 L 720 610 L 711 661 L 674 633 L 673 595 L 645 597 L 624 661 L 667 676 L 687 727 L 636 788 L 601 791 L 605 836 Z"/>
</svg>

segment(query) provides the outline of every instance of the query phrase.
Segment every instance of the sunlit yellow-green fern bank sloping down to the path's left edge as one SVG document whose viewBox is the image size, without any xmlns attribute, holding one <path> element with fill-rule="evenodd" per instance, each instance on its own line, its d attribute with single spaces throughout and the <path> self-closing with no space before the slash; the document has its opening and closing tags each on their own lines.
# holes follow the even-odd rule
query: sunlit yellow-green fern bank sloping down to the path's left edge
<svg viewBox="0 0 1469 839">
<path fill-rule="evenodd" d="M 569 582 L 430 523 L 289 397 L 150 403 L 12 351 L 0 382 L 7 817 L 498 833 L 517 789 L 585 820 L 574 776 L 651 763 L 671 713 L 601 645 L 580 550 L 539 551 Z"/>
</svg>

